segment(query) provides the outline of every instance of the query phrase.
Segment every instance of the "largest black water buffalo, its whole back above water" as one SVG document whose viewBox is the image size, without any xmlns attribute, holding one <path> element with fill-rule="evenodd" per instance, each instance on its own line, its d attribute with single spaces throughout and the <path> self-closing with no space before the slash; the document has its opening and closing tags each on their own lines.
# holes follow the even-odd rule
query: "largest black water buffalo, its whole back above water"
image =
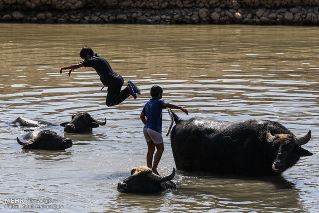
<svg viewBox="0 0 319 213">
<path fill-rule="evenodd" d="M 176 168 L 184 171 L 233 173 L 240 175 L 280 174 L 311 152 L 280 123 L 250 119 L 227 122 L 193 117 L 183 120 L 171 110 L 176 125 L 171 132 L 171 147 Z"/>
</svg>

